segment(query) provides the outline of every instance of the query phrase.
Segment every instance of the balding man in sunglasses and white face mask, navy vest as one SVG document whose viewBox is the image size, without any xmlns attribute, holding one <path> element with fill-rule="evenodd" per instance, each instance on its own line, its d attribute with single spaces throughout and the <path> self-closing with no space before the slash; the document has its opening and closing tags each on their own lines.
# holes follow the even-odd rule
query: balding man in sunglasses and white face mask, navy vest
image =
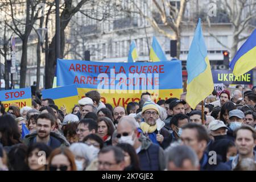
<svg viewBox="0 0 256 182">
<path fill-rule="evenodd" d="M 139 133 L 133 117 L 124 116 L 120 119 L 117 125 L 117 139 L 118 143 L 129 143 L 134 147 L 143 171 L 164 170 L 166 167 L 163 149 Z"/>
</svg>

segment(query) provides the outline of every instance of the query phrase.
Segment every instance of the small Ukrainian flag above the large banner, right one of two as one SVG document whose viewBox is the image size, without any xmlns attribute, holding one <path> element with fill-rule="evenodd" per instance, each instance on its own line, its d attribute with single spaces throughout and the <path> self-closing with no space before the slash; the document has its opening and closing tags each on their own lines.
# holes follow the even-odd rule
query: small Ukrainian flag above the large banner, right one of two
<svg viewBox="0 0 256 182">
<path fill-rule="evenodd" d="M 152 47 L 150 49 L 150 60 L 153 62 L 167 61 L 166 55 L 158 43 L 158 40 L 156 40 L 155 36 L 153 36 Z"/>
</svg>

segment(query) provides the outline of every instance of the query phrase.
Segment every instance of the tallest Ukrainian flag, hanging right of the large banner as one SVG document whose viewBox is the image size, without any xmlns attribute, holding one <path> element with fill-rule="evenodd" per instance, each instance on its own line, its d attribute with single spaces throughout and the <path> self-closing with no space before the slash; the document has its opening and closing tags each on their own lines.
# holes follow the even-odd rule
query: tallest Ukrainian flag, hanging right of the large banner
<svg viewBox="0 0 256 182">
<path fill-rule="evenodd" d="M 196 105 L 209 96 L 214 88 L 200 18 L 188 52 L 187 72 L 186 100 L 192 109 L 195 109 Z"/>
</svg>

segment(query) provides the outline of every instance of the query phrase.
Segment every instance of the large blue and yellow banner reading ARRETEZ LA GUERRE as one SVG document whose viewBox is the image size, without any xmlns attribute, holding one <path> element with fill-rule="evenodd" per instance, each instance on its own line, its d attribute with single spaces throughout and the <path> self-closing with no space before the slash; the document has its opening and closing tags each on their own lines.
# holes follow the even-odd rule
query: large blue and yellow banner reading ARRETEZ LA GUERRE
<svg viewBox="0 0 256 182">
<path fill-rule="evenodd" d="M 97 90 L 104 103 L 126 106 L 138 102 L 142 92 L 152 100 L 180 97 L 183 92 L 181 61 L 155 63 L 103 63 L 57 60 L 57 86 L 77 85 L 79 97 Z"/>
</svg>

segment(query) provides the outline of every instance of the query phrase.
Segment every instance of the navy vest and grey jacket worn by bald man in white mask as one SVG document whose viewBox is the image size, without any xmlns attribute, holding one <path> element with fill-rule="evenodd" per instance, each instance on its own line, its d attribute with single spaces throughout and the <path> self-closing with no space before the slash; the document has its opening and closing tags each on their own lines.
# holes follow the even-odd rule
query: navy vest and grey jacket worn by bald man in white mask
<svg viewBox="0 0 256 182">
<path fill-rule="evenodd" d="M 139 163 L 142 171 L 163 171 L 166 168 L 163 149 L 141 135 L 141 151 L 139 151 Z"/>
</svg>

